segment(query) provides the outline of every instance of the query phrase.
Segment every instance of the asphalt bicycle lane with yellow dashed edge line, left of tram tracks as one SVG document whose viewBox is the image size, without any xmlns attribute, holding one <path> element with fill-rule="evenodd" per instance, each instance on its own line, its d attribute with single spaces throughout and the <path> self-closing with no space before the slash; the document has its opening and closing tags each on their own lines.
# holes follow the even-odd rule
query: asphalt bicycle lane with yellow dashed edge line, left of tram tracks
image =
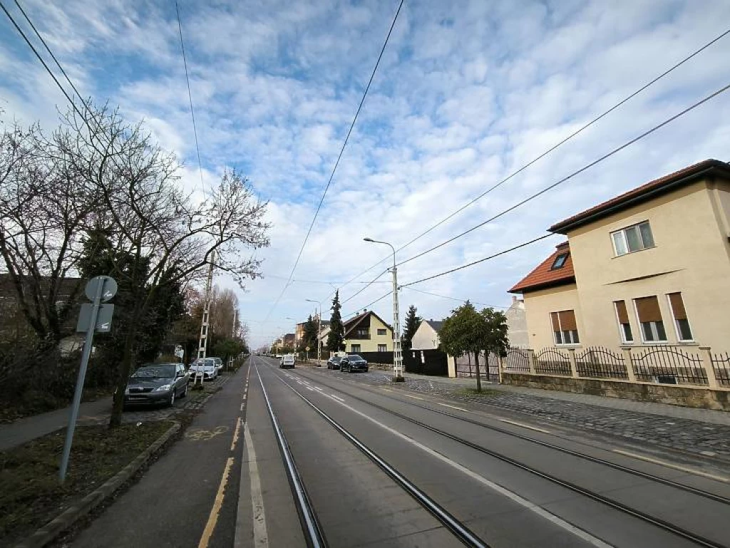
<svg viewBox="0 0 730 548">
<path fill-rule="evenodd" d="M 228 511 L 225 495 L 238 490 L 245 419 L 242 393 L 248 369 L 248 363 L 239 368 L 195 417 L 183 439 L 70 546 L 207 548 L 232 544 L 235 512 Z"/>
</svg>

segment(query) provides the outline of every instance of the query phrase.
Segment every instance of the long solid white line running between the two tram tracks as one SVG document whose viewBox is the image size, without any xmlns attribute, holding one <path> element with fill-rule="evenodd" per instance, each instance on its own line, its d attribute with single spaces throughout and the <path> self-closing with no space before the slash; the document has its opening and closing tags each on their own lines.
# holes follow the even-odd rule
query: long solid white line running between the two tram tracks
<svg viewBox="0 0 730 548">
<path fill-rule="evenodd" d="M 283 380 L 282 380 L 283 382 Z M 292 390 L 295 390 L 293 387 L 290 387 Z M 296 390 L 295 390 L 296 391 Z M 339 399 L 339 398 L 338 398 Z M 445 455 L 442 455 L 441 453 L 434 451 L 434 449 L 431 449 L 431 447 L 428 447 L 426 445 L 423 445 L 420 443 L 420 441 L 415 441 L 415 439 L 410 438 L 409 436 L 406 436 L 404 433 L 400 433 L 399 431 L 391 428 L 390 426 L 384 425 L 383 422 L 379 422 L 375 420 L 372 417 L 369 417 L 369 415 L 358 411 L 357 409 L 344 404 L 340 403 L 343 407 L 346 407 L 347 409 L 350 409 L 355 414 L 360 415 L 366 420 L 369 420 L 370 422 L 373 422 L 374 424 L 380 426 L 380 428 L 383 428 L 385 431 L 388 431 L 393 434 L 393 436 L 397 436 L 400 439 L 403 439 L 407 443 L 418 447 L 418 449 L 421 449 L 422 451 L 427 452 L 429 455 L 433 456 L 434 458 L 437 458 L 441 460 L 442 462 L 448 464 L 449 466 L 452 466 L 453 468 L 456 468 L 458 471 L 461 471 L 462 473 L 466 474 L 467 476 L 471 477 L 472 479 L 477 480 L 477 482 L 480 482 L 483 485 L 486 485 L 487 487 L 491 488 L 492 490 L 496 491 L 497 493 L 506 496 L 507 498 L 510 498 L 512 501 L 520 504 L 520 506 L 524 506 L 526 509 L 531 510 L 531 512 L 534 512 L 535 514 L 539 515 L 540 517 L 545 518 L 545 520 L 548 520 L 549 522 L 553 523 L 554 525 L 557 525 L 560 528 L 563 528 L 566 531 L 569 531 L 569 533 L 574 534 L 575 536 L 579 537 L 580 539 L 583 539 L 584 541 L 588 542 L 588 544 L 591 544 L 594 547 L 597 548 L 613 548 L 611 544 L 607 544 L 607 542 L 602 541 L 601 539 L 591 535 L 591 533 L 588 533 L 588 531 L 585 531 L 583 529 L 577 528 L 575 525 L 570 524 L 569 522 L 566 522 L 561 517 L 556 516 L 555 514 L 551 514 L 547 510 L 543 509 L 542 507 L 538 506 L 537 504 L 528 501 L 526 498 L 521 497 L 517 493 L 513 493 L 512 491 L 508 490 L 506 487 L 502 487 L 502 485 L 499 485 L 495 482 L 492 482 L 489 479 L 486 479 L 484 476 L 480 476 L 475 471 L 470 470 L 469 468 L 466 468 L 466 466 L 463 466 L 459 463 L 457 463 L 454 460 L 451 460 L 450 458 L 446 457 Z"/>
</svg>

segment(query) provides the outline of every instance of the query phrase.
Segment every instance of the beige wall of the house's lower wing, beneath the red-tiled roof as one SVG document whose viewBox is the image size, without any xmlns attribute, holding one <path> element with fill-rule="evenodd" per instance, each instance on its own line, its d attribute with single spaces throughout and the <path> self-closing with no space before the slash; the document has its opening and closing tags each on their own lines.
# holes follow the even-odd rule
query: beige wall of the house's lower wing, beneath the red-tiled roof
<svg viewBox="0 0 730 548">
<path fill-rule="evenodd" d="M 585 338 L 583 313 L 580 309 L 580 301 L 575 284 L 531 291 L 525 293 L 524 298 L 529 348 L 539 349 L 555 345 L 553 326 L 550 323 L 550 312 L 558 312 L 558 310 L 575 310 L 578 337 L 583 341 Z"/>
</svg>

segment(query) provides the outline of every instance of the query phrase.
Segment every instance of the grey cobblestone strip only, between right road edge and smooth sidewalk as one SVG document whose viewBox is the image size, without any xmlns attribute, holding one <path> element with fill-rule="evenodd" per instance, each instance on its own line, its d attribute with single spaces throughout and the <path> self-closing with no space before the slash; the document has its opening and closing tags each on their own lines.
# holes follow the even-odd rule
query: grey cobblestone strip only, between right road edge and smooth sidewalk
<svg viewBox="0 0 730 548">
<path fill-rule="evenodd" d="M 406 382 L 393 384 L 391 374 L 383 371 L 369 371 L 365 374 L 331 371 L 330 374 L 368 385 L 389 385 L 391 388 L 431 393 L 442 398 L 470 404 L 507 409 L 531 415 L 537 420 L 545 422 L 556 422 L 570 428 L 616 436 L 635 446 L 666 447 L 730 464 L 730 425 L 618 409 L 617 406 L 606 407 L 566 401 L 534 393 L 493 390 L 490 385 L 485 386 L 485 390 L 488 390 L 487 394 L 477 395 L 466 390 L 464 382 L 452 383 L 445 379 L 431 381 L 418 377 L 407 377 Z M 474 386 L 474 383 L 469 386 Z M 625 402 L 626 406 L 634 403 Z"/>
</svg>

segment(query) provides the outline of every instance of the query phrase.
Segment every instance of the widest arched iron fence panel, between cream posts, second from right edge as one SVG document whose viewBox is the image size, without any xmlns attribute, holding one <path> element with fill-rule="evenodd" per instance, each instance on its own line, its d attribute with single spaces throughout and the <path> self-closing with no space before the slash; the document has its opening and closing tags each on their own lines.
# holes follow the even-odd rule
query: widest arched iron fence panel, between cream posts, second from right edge
<svg viewBox="0 0 730 548">
<path fill-rule="evenodd" d="M 676 347 L 648 347 L 631 355 L 637 381 L 665 385 L 707 385 L 702 358 Z"/>
</svg>

